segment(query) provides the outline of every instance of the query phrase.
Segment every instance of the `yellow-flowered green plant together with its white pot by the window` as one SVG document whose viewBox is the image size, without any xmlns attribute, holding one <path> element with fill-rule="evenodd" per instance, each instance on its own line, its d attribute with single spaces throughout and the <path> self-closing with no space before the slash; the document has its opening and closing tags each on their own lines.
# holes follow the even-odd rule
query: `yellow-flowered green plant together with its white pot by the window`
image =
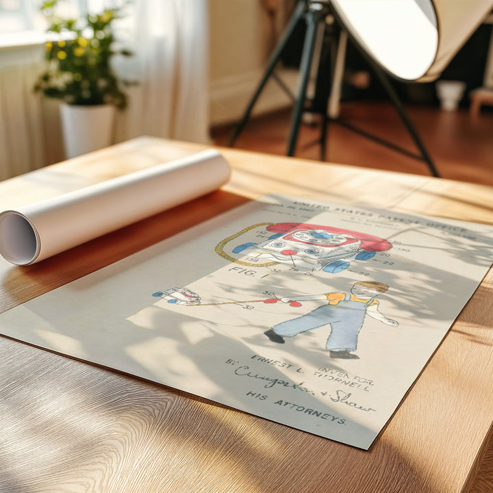
<svg viewBox="0 0 493 493">
<path fill-rule="evenodd" d="M 67 157 L 74 157 L 112 143 L 115 108 L 125 108 L 127 97 L 114 73 L 116 54 L 113 23 L 121 9 L 62 18 L 58 0 L 45 1 L 41 12 L 48 21 L 46 68 L 35 90 L 62 101 L 62 131 Z"/>
</svg>

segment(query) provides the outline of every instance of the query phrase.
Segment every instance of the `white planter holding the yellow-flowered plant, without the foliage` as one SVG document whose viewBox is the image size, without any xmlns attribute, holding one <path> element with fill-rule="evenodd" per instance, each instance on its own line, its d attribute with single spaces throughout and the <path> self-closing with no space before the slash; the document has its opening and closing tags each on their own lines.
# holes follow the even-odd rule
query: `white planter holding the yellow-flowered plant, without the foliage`
<svg viewBox="0 0 493 493">
<path fill-rule="evenodd" d="M 75 157 L 112 144 L 113 105 L 60 105 L 66 157 Z"/>
</svg>

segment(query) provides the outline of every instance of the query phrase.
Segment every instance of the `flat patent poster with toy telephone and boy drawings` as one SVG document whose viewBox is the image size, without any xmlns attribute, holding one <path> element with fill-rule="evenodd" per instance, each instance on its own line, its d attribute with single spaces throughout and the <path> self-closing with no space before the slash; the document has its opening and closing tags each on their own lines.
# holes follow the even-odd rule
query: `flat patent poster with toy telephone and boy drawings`
<svg viewBox="0 0 493 493">
<path fill-rule="evenodd" d="M 269 196 L 6 312 L 0 331 L 368 449 L 492 253 L 486 225 Z"/>
</svg>

